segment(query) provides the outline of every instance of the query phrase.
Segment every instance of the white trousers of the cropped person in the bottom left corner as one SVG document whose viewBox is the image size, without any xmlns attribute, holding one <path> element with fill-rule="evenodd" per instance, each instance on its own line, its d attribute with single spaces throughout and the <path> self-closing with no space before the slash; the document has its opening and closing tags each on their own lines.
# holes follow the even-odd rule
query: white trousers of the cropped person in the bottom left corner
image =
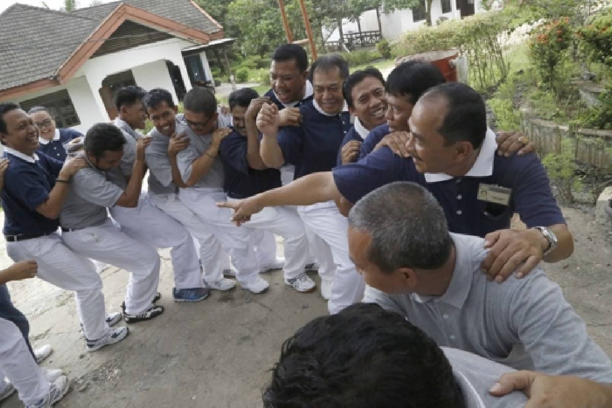
<svg viewBox="0 0 612 408">
<path fill-rule="evenodd" d="M 17 326 L 0 318 L 0 381 L 8 377 L 26 406 L 47 395 L 51 384 L 36 365 Z"/>
</svg>

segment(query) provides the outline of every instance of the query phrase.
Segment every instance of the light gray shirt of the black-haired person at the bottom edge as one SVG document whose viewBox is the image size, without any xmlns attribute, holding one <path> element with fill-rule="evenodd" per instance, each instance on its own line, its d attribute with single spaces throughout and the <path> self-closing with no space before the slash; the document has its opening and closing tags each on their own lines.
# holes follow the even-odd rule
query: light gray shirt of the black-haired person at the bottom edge
<svg viewBox="0 0 612 408">
<path fill-rule="evenodd" d="M 453 368 L 466 408 L 516 408 L 526 404 L 527 397 L 518 391 L 502 398 L 489 393 L 502 374 L 514 369 L 463 350 L 442 347 L 442 351 Z"/>
</svg>

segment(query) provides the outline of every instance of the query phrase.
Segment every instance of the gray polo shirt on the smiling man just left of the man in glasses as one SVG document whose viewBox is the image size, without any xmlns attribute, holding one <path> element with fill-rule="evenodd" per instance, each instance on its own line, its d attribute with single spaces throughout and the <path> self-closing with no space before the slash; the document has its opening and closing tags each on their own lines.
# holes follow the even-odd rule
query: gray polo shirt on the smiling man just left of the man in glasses
<svg viewBox="0 0 612 408">
<path fill-rule="evenodd" d="M 182 115 L 176 116 L 176 133 L 185 132 L 181 124 Z M 179 188 L 173 182 L 172 165 L 168 158 L 168 145 L 170 138 L 163 135 L 156 128 L 147 133 L 151 136 L 151 144 L 144 150 L 144 157 L 149 166 L 149 194 L 174 194 Z"/>
</svg>

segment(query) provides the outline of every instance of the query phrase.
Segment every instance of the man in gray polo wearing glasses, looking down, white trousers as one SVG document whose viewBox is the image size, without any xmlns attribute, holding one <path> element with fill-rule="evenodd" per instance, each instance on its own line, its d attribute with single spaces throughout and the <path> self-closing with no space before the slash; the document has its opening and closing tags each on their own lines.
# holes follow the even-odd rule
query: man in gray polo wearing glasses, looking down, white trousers
<svg viewBox="0 0 612 408">
<path fill-rule="evenodd" d="M 211 92 L 195 87 L 185 95 L 184 124 L 189 146 L 177 155 L 181 179 L 187 186 L 179 198 L 206 224 L 223 249 L 230 254 L 237 269 L 236 278 L 244 289 L 253 293 L 265 291 L 269 284 L 259 272 L 259 264 L 252 247 L 250 229 L 231 223 L 231 211 L 215 206 L 226 201 L 223 191 L 223 163 L 218 157 L 221 141 L 229 135 L 230 125 L 218 116 L 217 100 Z M 203 265 L 221 265 L 222 251 L 216 246 L 200 249 Z"/>
</svg>

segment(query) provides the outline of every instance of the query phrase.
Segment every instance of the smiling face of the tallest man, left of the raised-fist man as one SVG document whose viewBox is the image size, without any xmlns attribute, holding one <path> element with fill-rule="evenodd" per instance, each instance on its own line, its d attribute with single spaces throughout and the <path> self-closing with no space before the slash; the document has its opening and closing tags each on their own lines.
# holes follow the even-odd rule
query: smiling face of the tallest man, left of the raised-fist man
<svg viewBox="0 0 612 408">
<path fill-rule="evenodd" d="M 288 104 L 304 98 L 308 71 L 300 72 L 295 59 L 274 61 L 270 66 L 270 86 L 280 102 Z"/>
</svg>

